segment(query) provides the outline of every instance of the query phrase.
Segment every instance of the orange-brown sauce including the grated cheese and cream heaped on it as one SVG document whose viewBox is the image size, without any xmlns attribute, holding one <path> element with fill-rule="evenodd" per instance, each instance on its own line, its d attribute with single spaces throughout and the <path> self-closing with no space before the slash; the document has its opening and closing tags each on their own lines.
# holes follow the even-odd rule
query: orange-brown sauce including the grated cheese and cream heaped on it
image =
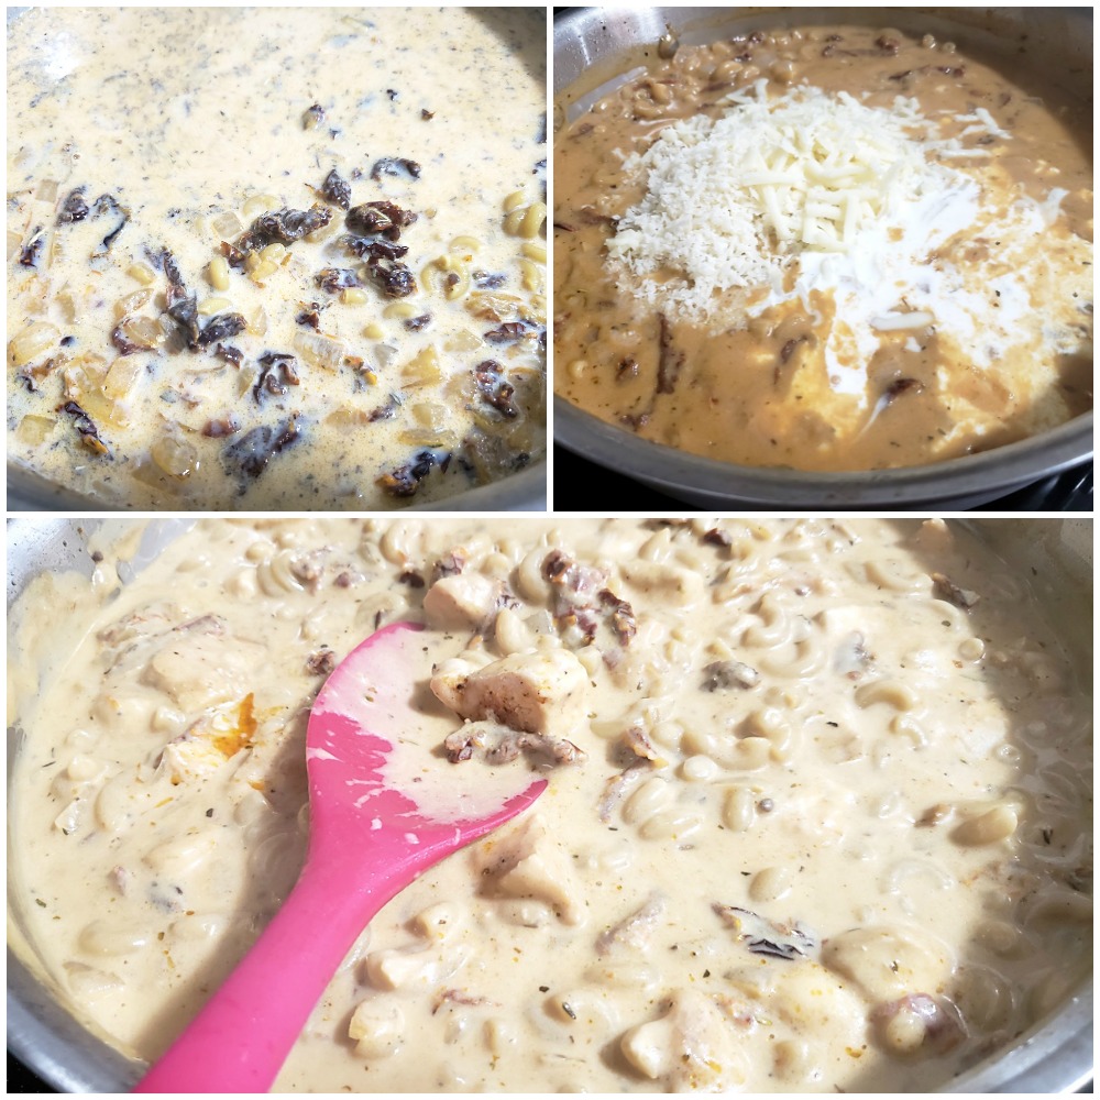
<svg viewBox="0 0 1100 1100">
<path fill-rule="evenodd" d="M 1002 68 L 933 35 L 754 32 L 563 125 L 558 393 L 800 470 L 936 462 L 1091 408 L 1090 108 Z"/>
</svg>

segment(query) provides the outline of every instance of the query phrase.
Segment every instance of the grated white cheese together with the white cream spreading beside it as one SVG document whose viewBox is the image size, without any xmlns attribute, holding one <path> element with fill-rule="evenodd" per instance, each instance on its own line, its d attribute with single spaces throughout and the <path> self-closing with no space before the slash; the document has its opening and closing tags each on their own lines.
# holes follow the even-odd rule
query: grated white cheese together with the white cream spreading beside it
<svg viewBox="0 0 1100 1100">
<path fill-rule="evenodd" d="M 873 108 L 810 86 L 769 97 L 760 80 L 726 103 L 718 119 L 667 127 L 624 163 L 646 193 L 607 252 L 642 302 L 730 326 L 794 299 L 816 314 L 812 294 L 823 293 L 834 307 L 829 384 L 860 402 L 891 331 L 934 329 L 986 369 L 1010 345 L 1038 354 L 1071 342 L 1071 321 L 1044 322 L 1030 307 L 1033 288 L 1076 286 L 1090 270 L 1087 242 L 1048 246 L 1065 191 L 1043 202 L 1007 191 L 983 175 L 988 145 L 945 138 L 913 99 Z M 952 121 L 970 123 L 968 141 L 1008 136 L 985 109 Z M 985 242 L 988 258 L 946 262 L 959 234 Z"/>
</svg>

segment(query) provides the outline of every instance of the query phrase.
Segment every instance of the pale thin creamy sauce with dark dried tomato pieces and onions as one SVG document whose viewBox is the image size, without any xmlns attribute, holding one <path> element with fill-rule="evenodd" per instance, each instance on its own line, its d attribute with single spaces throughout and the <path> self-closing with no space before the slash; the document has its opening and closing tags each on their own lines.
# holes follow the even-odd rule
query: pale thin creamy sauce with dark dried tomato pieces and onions
<svg viewBox="0 0 1100 1100">
<path fill-rule="evenodd" d="M 397 508 L 543 453 L 542 11 L 8 36 L 9 459 L 112 506 Z"/>
</svg>

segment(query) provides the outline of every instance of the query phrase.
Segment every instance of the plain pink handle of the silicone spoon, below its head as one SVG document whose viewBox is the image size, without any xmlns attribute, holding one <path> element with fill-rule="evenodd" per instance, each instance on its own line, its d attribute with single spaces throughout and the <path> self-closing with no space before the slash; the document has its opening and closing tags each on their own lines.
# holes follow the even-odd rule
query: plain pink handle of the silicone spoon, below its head
<svg viewBox="0 0 1100 1100">
<path fill-rule="evenodd" d="M 283 908 L 135 1092 L 266 1092 L 355 937 L 400 888 L 348 899 L 342 867 L 307 864 Z M 332 881 L 329 881 L 329 880 Z M 334 906 L 334 899 L 342 899 Z"/>
</svg>

